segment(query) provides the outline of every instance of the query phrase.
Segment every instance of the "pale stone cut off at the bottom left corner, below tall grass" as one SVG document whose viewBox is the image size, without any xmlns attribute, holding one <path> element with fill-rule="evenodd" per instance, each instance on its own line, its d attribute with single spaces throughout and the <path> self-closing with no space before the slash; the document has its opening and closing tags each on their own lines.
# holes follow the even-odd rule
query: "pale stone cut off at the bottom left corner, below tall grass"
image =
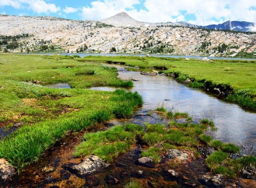
<svg viewBox="0 0 256 188">
<path fill-rule="evenodd" d="M 10 180 L 15 173 L 15 168 L 6 159 L 0 159 L 0 179 Z"/>
</svg>

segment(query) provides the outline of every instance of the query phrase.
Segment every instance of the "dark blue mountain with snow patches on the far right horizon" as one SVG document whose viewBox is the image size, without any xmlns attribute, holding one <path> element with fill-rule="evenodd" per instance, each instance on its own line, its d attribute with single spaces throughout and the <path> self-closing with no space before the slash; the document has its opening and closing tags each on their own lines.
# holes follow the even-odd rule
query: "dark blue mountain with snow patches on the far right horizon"
<svg viewBox="0 0 256 188">
<path fill-rule="evenodd" d="M 235 31 L 256 31 L 256 23 L 247 21 L 226 21 L 218 25 L 201 26 L 207 29 L 235 30 Z"/>
</svg>

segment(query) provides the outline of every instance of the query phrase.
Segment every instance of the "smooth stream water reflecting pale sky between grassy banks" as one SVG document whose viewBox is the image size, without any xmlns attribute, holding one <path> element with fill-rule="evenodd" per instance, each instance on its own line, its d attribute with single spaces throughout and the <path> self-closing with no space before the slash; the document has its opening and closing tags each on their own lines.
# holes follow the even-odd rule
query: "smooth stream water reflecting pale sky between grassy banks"
<svg viewBox="0 0 256 188">
<path fill-rule="evenodd" d="M 111 65 L 121 67 L 120 65 Z M 214 118 L 218 131 L 215 139 L 256 147 L 256 114 L 238 105 L 226 103 L 200 90 L 188 88 L 166 76 L 145 76 L 139 72 L 119 71 L 122 79 L 136 78 L 134 88 L 143 96 L 143 110 L 155 109 L 164 102 L 165 108 L 188 112 L 195 121 Z M 164 101 L 170 99 L 170 101 Z"/>
</svg>

